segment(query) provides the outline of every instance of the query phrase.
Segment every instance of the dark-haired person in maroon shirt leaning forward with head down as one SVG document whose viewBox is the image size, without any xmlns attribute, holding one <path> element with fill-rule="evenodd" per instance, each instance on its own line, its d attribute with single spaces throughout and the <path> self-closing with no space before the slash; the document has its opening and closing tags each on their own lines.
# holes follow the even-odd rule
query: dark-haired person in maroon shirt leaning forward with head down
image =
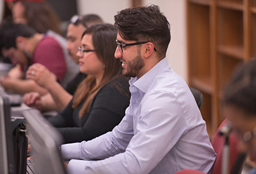
<svg viewBox="0 0 256 174">
<path fill-rule="evenodd" d="M 8 75 L 0 79 L 5 90 L 18 93 L 31 91 L 41 95 L 47 93 L 35 81 L 25 78 L 27 68 L 34 63 L 43 64 L 51 71 L 58 81 L 66 73 L 65 55 L 56 39 L 39 34 L 24 24 L 3 23 L 0 26 L 0 50 L 3 56 L 16 64 Z M 36 71 L 33 71 L 33 74 Z"/>
</svg>

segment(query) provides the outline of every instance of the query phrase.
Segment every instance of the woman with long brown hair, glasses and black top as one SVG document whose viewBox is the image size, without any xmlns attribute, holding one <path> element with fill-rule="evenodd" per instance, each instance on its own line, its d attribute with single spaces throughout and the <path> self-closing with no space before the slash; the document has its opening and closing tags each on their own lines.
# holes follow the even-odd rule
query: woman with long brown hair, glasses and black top
<svg viewBox="0 0 256 174">
<path fill-rule="evenodd" d="M 49 121 L 62 133 L 65 143 L 91 140 L 119 124 L 129 106 L 128 79 L 115 59 L 117 30 L 111 24 L 96 24 L 82 35 L 77 55 L 81 82 L 61 114 Z"/>
</svg>

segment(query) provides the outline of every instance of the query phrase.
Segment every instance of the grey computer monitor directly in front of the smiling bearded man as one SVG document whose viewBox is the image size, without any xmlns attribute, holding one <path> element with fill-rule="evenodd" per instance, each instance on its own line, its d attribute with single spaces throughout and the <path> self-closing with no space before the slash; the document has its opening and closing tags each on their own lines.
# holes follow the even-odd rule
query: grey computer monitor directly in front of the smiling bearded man
<svg viewBox="0 0 256 174">
<path fill-rule="evenodd" d="M 29 125 L 35 173 L 66 173 L 59 146 L 63 139 L 60 133 L 49 124 L 38 110 L 23 111 Z"/>
</svg>

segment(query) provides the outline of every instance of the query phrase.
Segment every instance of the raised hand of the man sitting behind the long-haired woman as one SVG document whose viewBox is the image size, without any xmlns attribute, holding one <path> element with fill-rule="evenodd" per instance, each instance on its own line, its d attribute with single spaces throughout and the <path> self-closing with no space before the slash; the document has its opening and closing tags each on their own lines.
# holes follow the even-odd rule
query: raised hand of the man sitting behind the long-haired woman
<svg viewBox="0 0 256 174">
<path fill-rule="evenodd" d="M 47 89 L 57 79 L 54 73 L 51 73 L 47 67 L 39 63 L 35 63 L 29 67 L 26 77 L 33 79 L 38 85 Z"/>
</svg>

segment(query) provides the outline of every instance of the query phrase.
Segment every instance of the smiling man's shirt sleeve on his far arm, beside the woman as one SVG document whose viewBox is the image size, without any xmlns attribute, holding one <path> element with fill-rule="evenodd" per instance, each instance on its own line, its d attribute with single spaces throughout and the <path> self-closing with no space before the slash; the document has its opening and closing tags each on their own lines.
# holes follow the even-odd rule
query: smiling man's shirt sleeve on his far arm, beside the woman
<svg viewBox="0 0 256 174">
<path fill-rule="evenodd" d="M 81 143 L 63 144 L 63 158 L 65 160 L 102 160 L 124 152 L 131 137 L 133 137 L 132 122 L 133 117 L 129 114 L 127 108 L 126 116 L 112 132 L 105 133 L 88 142 L 83 141 Z M 85 146 L 86 148 L 84 148 Z"/>
</svg>

